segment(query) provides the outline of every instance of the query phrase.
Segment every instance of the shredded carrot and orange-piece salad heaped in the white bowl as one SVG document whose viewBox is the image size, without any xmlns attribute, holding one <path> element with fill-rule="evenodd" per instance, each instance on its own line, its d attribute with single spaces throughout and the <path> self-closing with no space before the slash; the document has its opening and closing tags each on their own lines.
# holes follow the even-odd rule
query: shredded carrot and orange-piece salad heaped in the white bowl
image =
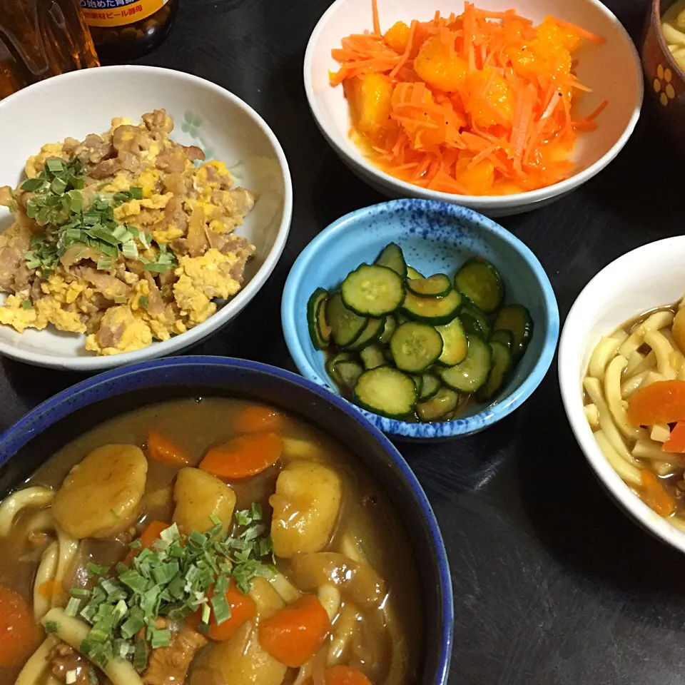
<svg viewBox="0 0 685 685">
<path fill-rule="evenodd" d="M 350 138 L 382 171 L 462 195 L 544 188 L 574 172 L 574 142 L 597 128 L 607 101 L 572 118 L 590 91 L 572 54 L 601 36 L 554 17 L 534 26 L 514 9 L 469 1 L 460 16 L 436 11 L 429 21 L 398 21 L 384 36 L 371 4 L 373 33 L 342 39 L 330 83 L 345 88 Z"/>
</svg>

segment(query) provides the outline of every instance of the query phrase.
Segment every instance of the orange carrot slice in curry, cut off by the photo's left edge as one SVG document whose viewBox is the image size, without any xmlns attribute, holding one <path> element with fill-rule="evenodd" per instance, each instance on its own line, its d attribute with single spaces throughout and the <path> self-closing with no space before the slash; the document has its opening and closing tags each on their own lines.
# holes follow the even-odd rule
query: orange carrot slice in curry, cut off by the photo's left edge
<svg viewBox="0 0 685 685">
<path fill-rule="evenodd" d="M 21 594 L 0 585 L 0 666 L 19 666 L 36 646 L 38 631 Z"/>
</svg>

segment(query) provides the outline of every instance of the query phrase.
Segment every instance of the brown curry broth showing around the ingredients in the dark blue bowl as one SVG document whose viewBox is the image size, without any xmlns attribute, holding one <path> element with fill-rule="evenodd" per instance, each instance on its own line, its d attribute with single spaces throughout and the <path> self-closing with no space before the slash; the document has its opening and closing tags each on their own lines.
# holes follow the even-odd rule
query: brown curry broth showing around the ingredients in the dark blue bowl
<svg viewBox="0 0 685 685">
<path fill-rule="evenodd" d="M 162 433 L 178 447 L 186 450 L 191 457 L 191 465 L 196 466 L 209 447 L 240 434 L 235 417 L 240 410 L 254 404 L 247 400 L 202 397 L 172 400 L 133 410 L 76 437 L 39 467 L 25 485 L 44 485 L 57 489 L 71 467 L 81 462 L 91 450 L 107 443 L 132 443 L 143 446 L 151 429 Z M 420 582 L 412 549 L 395 512 L 392 511 L 387 495 L 372 482 L 365 469 L 354 463 L 353 457 L 348 455 L 346 450 L 323 435 L 320 430 L 286 415 L 285 425 L 280 433 L 285 441 L 281 460 L 283 463 L 294 457 L 295 448 L 308 446 L 306 449 L 315 460 L 332 467 L 342 479 L 343 497 L 338 524 L 325 551 L 339 551 L 340 537 L 348 532 L 357 540 L 368 562 L 387 582 L 388 606 L 393 607 L 397 618 L 394 631 L 388 630 L 384 625 L 385 614 L 377 609 L 364 609 L 361 621 L 364 624 L 363 639 L 356 640 L 353 648 L 355 653 L 351 654 L 345 663 L 362 667 L 367 673 L 375 676 L 372 678 L 375 685 L 380 684 L 387 676 L 394 645 L 394 649 L 405 654 L 407 676 L 402 682 L 392 685 L 415 681 L 422 656 L 422 641 L 417 639 L 417 636 L 423 635 Z M 289 443 L 290 440 L 301 442 Z M 275 466 L 259 475 L 227 481 L 235 490 L 235 509 L 245 509 L 253 502 L 260 502 L 263 504 L 265 522 L 270 523 L 268 497 L 275 490 L 279 471 L 277 462 Z M 178 469 L 148 458 L 146 494 L 143 498 L 145 506 L 144 513 L 136 524 L 138 533 L 148 520 L 160 519 L 171 522 L 172 484 L 176 472 Z M 40 547 L 36 551 L 26 538 L 26 524 L 35 515 L 36 509 L 24 509 L 17 517 L 9 537 L 0 538 L 0 557 L 12 560 L 11 563 L 1 564 L 0 583 L 20 592 L 29 602 L 29 606 L 42 551 Z M 113 564 L 121 559 L 127 550 L 126 544 L 116 540 L 85 539 L 81 542 L 75 566 L 82 572 L 88 561 Z M 277 559 L 277 567 L 286 577 L 290 577 L 290 562 L 287 559 Z M 78 582 L 78 569 L 68 574 L 64 585 L 71 587 L 75 582 Z M 335 626 L 335 623 L 333 625 Z M 38 644 L 39 639 L 36 646 Z M 197 659 L 201 660 L 201 657 L 200 652 Z M 193 666 L 186 682 L 192 681 L 192 668 Z M 0 668 L 0 685 L 13 684 L 20 670 Z M 289 669 L 283 684 L 293 682 L 297 673 L 297 669 Z"/>
</svg>

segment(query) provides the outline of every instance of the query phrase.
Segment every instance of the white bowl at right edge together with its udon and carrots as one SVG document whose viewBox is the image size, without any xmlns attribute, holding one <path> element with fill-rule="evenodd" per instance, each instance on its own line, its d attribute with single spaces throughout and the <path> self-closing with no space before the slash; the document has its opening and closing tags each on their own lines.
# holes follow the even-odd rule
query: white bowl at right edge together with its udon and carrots
<svg viewBox="0 0 685 685">
<path fill-rule="evenodd" d="M 626 512 L 682 552 L 684 263 L 685 236 L 614 260 L 578 296 L 559 345 L 564 408 L 594 472 Z"/>
</svg>

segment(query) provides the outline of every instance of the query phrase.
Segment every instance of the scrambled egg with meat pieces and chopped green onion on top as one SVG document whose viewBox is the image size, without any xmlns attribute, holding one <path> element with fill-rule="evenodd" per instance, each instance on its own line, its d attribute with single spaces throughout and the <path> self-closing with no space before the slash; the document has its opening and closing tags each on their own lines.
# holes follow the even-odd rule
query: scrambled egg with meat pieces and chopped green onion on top
<svg viewBox="0 0 685 685">
<path fill-rule="evenodd" d="M 113 118 L 101 136 L 44 145 L 26 161 L 33 185 L 0 188 L 16 221 L 0 235 L 0 324 L 86 333 L 86 350 L 114 355 L 185 333 L 238 293 L 255 248 L 232 234 L 256 198 L 172 128 L 163 110 Z M 52 183 L 64 168 L 82 188 Z M 68 196 L 68 212 L 41 213 L 46 193 Z"/>
</svg>

